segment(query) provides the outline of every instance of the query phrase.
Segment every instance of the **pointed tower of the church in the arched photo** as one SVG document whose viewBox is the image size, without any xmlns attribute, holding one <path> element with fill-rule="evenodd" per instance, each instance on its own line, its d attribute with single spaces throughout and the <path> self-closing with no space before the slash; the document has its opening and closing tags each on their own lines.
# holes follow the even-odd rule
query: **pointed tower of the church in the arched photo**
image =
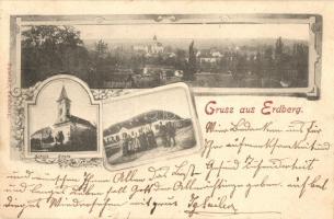
<svg viewBox="0 0 334 219">
<path fill-rule="evenodd" d="M 69 100 L 65 87 L 62 85 L 59 99 L 57 100 L 58 103 L 58 115 L 56 123 L 64 123 L 69 120 L 71 115 L 71 100 Z"/>
</svg>

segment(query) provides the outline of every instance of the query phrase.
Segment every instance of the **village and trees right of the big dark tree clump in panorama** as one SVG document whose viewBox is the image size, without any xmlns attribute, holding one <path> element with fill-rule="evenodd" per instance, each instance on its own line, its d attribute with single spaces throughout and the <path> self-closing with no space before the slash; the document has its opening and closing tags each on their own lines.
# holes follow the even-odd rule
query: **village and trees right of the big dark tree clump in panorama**
<svg viewBox="0 0 334 219">
<path fill-rule="evenodd" d="M 101 49 L 105 47 L 104 49 Z M 95 45 L 101 59 L 92 69 L 93 87 L 153 88 L 184 81 L 195 87 L 289 88 L 307 84 L 308 46 L 229 46 L 187 50 L 163 45 L 154 35 L 150 43 L 128 47 Z M 95 51 L 96 51 L 95 50 Z M 103 51 L 104 50 L 104 51 Z"/>
</svg>

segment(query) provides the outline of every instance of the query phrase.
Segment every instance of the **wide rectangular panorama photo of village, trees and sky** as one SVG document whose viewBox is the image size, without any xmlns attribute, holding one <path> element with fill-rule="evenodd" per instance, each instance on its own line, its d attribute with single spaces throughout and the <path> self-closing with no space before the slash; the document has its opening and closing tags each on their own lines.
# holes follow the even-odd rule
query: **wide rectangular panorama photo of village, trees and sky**
<svg viewBox="0 0 334 219">
<path fill-rule="evenodd" d="M 308 24 L 25 25 L 21 85 L 58 73 L 93 89 L 307 88 Z"/>
</svg>

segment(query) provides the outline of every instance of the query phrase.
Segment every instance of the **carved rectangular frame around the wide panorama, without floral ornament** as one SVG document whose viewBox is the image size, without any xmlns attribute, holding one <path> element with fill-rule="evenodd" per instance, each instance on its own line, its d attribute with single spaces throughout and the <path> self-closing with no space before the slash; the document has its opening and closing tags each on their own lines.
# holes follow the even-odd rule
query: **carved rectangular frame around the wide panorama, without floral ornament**
<svg viewBox="0 0 334 219">
<path fill-rule="evenodd" d="M 96 15 L 13 15 L 11 16 L 11 60 L 15 87 L 21 84 L 21 30 L 24 25 L 119 25 L 119 24 L 308 24 L 308 88 L 193 88 L 196 95 L 297 95 L 320 97 L 322 16 L 319 14 L 96 14 Z M 116 90 L 116 89 L 114 89 Z M 115 91 L 117 92 L 117 91 Z M 107 95 L 108 92 L 106 92 Z M 99 95 L 99 94 L 97 94 Z M 104 94 L 103 94 L 104 95 Z M 103 96 L 102 95 L 102 96 Z"/>
</svg>

